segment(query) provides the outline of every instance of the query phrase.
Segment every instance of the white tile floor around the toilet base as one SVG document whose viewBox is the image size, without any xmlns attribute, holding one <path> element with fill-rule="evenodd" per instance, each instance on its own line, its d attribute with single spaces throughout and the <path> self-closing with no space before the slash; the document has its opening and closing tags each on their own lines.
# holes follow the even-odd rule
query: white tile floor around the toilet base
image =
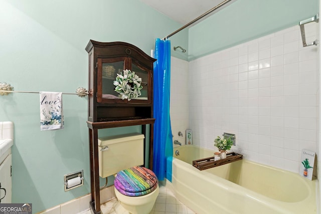
<svg viewBox="0 0 321 214">
<path fill-rule="evenodd" d="M 116 198 L 111 199 L 101 205 L 103 214 L 129 214 L 128 211 L 119 204 Z M 165 186 L 159 185 L 159 194 L 156 203 L 149 214 L 195 214 L 190 208 L 176 199 L 173 192 Z M 91 214 L 91 210 L 81 212 L 81 214 Z"/>
</svg>

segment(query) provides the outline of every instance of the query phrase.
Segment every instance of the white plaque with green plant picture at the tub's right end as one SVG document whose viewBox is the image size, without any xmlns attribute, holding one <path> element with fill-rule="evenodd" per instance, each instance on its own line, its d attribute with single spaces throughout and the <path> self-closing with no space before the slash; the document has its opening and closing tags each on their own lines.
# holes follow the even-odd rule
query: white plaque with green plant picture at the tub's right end
<svg viewBox="0 0 321 214">
<path fill-rule="evenodd" d="M 303 149 L 301 154 L 301 163 L 299 173 L 303 177 L 312 180 L 315 152 Z"/>
</svg>

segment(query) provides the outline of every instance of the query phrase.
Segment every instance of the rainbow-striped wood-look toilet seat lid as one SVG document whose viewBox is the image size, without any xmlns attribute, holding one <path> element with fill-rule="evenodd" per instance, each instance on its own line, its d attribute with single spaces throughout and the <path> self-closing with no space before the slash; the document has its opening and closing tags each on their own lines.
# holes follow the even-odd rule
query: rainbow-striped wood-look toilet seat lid
<svg viewBox="0 0 321 214">
<path fill-rule="evenodd" d="M 126 196 L 146 195 L 158 186 L 158 179 L 153 171 L 142 166 L 121 170 L 114 180 L 115 188 Z"/>
</svg>

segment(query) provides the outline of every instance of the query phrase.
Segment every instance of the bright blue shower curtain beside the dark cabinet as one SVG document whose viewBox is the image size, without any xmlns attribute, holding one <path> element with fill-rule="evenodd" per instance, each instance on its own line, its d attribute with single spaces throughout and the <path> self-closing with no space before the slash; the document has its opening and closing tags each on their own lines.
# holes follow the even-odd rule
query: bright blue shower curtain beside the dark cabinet
<svg viewBox="0 0 321 214">
<path fill-rule="evenodd" d="M 173 137 L 170 118 L 171 42 L 156 39 L 153 73 L 153 166 L 158 180 L 172 181 Z"/>
</svg>

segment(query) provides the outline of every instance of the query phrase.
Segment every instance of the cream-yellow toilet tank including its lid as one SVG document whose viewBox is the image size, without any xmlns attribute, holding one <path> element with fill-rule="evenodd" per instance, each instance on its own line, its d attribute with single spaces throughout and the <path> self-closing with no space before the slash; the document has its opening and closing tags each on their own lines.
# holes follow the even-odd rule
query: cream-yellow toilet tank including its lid
<svg viewBox="0 0 321 214">
<path fill-rule="evenodd" d="M 144 135 L 130 133 L 98 138 L 99 176 L 144 163 Z"/>
</svg>

